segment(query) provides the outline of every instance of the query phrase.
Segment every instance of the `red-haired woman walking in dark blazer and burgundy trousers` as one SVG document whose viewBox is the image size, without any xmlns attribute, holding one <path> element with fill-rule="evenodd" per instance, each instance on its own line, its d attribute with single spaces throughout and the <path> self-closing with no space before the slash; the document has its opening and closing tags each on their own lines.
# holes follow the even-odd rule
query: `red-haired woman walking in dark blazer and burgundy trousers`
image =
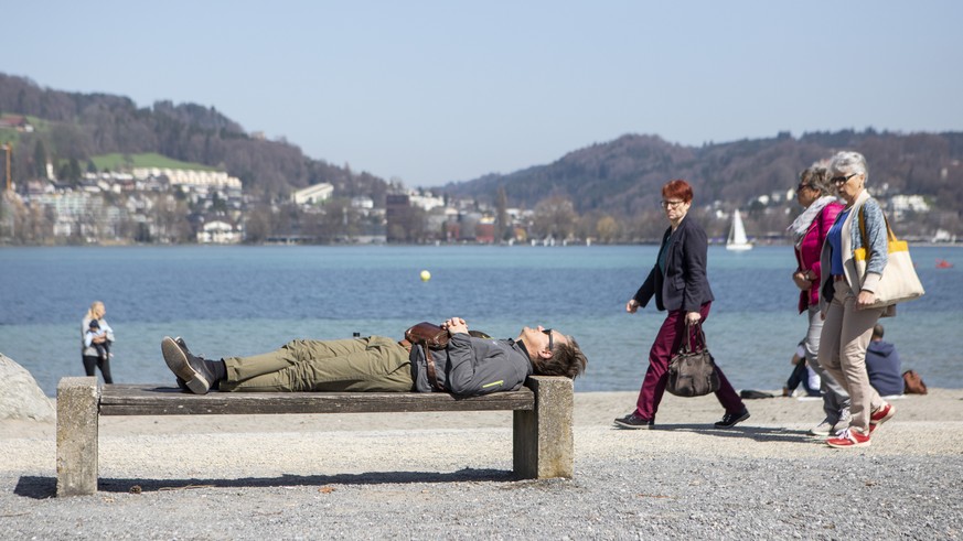
<svg viewBox="0 0 963 541">
<path fill-rule="evenodd" d="M 616 425 L 622 429 L 651 429 L 654 425 L 655 412 L 665 392 L 668 361 L 678 351 L 687 324 L 698 323 L 709 315 L 714 297 L 706 278 L 708 241 L 706 231 L 692 218 L 686 218 L 692 198 L 692 186 L 683 180 L 670 181 L 662 186 L 662 208 L 670 227 L 662 237 L 662 247 L 649 278 L 625 304 L 625 312 L 634 314 L 654 295 L 655 307 L 668 311 L 668 314 L 649 351 L 649 370 L 642 380 L 635 410 L 616 419 Z M 716 398 L 726 409 L 716 426 L 729 428 L 749 419 L 749 410 L 723 371 L 718 367 L 716 370 L 721 383 Z"/>
</svg>

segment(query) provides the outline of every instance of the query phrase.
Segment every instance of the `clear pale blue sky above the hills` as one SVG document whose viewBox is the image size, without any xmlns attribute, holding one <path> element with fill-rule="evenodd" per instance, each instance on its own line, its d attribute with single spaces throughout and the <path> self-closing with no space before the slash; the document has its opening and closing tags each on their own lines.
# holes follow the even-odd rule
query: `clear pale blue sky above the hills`
<svg viewBox="0 0 963 541">
<path fill-rule="evenodd" d="M 0 72 L 434 186 L 624 133 L 963 130 L 963 2 L 4 2 Z"/>
</svg>

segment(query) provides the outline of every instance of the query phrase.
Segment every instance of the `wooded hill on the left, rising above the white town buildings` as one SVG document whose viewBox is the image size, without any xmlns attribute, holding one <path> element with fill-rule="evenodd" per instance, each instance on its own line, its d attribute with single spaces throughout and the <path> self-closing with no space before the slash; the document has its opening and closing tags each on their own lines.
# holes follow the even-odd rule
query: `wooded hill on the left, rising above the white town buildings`
<svg viewBox="0 0 963 541">
<path fill-rule="evenodd" d="M 0 73 L 0 113 L 42 119 L 43 129 L 19 133 L 14 163 L 17 182 L 32 172 L 40 145 L 55 163 L 121 153 L 156 152 L 184 162 L 227 171 L 242 180 L 245 193 L 263 201 L 285 201 L 291 191 L 319 182 L 332 183 L 335 196 L 368 195 L 383 201 L 387 183 L 367 173 L 306 156 L 285 141 L 249 136 L 213 107 L 157 101 L 137 108 L 126 97 L 65 93 Z M 379 197 L 381 196 L 381 197 Z"/>
</svg>

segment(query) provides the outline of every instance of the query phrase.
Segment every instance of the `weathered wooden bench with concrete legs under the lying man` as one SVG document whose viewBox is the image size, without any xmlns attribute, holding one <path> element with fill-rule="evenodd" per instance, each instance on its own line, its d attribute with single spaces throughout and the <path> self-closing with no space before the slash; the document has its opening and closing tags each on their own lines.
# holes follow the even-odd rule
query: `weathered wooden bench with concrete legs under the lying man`
<svg viewBox="0 0 963 541">
<path fill-rule="evenodd" d="M 521 479 L 573 476 L 573 381 L 533 376 L 517 391 L 457 398 L 431 392 L 211 392 L 105 385 L 57 385 L 57 496 L 97 491 L 100 415 L 244 415 L 512 410 L 513 469 Z"/>
</svg>

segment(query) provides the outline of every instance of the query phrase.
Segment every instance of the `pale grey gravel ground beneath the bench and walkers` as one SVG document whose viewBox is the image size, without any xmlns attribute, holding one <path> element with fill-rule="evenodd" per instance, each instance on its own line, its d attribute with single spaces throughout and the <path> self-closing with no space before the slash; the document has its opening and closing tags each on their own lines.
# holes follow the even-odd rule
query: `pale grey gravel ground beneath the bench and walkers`
<svg viewBox="0 0 963 541">
<path fill-rule="evenodd" d="M 576 397 L 574 479 L 515 482 L 510 413 L 104 418 L 100 486 L 54 498 L 53 426 L 0 421 L 3 539 L 961 539 L 963 391 L 895 400 L 870 447 L 820 404 Z M 428 419 L 426 419 L 426 416 Z M 430 426 L 430 429 L 426 429 Z"/>
</svg>

